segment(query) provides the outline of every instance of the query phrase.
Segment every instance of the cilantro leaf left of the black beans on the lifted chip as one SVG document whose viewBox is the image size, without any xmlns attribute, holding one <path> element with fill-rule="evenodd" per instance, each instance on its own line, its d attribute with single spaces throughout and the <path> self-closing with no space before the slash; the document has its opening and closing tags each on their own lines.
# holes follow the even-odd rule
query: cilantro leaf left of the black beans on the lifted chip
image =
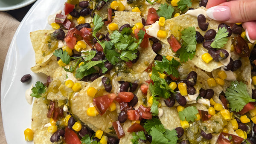
<svg viewBox="0 0 256 144">
<path fill-rule="evenodd" d="M 186 50 L 188 52 L 195 52 L 196 49 L 196 32 L 195 32 L 195 27 L 189 27 L 188 29 L 184 29 L 181 32 L 182 36 L 181 38 L 183 41 L 186 43 Z"/>
</svg>

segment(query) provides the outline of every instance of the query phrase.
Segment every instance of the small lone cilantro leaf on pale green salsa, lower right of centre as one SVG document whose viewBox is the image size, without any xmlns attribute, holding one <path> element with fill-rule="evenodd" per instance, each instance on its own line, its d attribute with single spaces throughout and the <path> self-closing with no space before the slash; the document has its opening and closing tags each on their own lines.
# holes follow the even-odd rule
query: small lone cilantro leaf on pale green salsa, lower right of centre
<svg viewBox="0 0 256 144">
<path fill-rule="evenodd" d="M 198 113 L 198 110 L 196 109 L 196 107 L 186 107 L 183 111 L 179 112 L 179 117 L 180 120 L 182 121 L 195 121 L 195 114 Z"/>
</svg>

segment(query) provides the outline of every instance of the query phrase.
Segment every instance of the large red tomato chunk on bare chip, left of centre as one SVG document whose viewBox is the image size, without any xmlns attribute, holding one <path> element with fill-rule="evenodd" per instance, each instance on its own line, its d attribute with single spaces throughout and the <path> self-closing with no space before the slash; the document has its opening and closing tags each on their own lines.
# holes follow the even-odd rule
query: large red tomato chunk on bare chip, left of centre
<svg viewBox="0 0 256 144">
<path fill-rule="evenodd" d="M 111 94 L 93 98 L 93 105 L 100 115 L 103 115 L 115 98 Z"/>
</svg>

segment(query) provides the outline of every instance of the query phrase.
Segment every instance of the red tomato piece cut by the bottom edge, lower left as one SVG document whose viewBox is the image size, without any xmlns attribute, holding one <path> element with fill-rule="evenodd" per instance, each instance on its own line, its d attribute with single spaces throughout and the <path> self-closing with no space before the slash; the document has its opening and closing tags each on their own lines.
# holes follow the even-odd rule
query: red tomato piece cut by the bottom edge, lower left
<svg viewBox="0 0 256 144">
<path fill-rule="evenodd" d="M 76 135 L 73 130 L 70 130 L 69 128 L 65 129 L 64 139 L 66 144 L 81 144 L 80 139 Z"/>
</svg>

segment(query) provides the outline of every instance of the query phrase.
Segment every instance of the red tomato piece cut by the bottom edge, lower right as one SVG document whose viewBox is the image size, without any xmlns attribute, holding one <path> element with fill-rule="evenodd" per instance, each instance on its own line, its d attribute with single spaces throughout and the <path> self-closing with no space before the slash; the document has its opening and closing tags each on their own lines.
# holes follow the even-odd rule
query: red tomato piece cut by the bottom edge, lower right
<svg viewBox="0 0 256 144">
<path fill-rule="evenodd" d="M 230 136 L 232 138 L 230 138 Z M 241 144 L 243 141 L 244 139 L 239 136 L 221 132 L 221 134 L 218 137 L 217 143 L 218 144 L 232 144 L 232 143 Z"/>
</svg>

